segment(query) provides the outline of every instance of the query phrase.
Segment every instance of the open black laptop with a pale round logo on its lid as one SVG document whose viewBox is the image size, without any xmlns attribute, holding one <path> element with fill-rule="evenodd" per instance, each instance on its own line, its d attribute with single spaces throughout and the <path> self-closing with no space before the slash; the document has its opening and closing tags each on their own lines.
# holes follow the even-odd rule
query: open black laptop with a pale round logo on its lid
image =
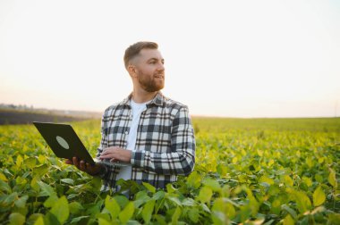
<svg viewBox="0 0 340 225">
<path fill-rule="evenodd" d="M 96 162 L 111 166 L 130 165 L 128 162 L 110 162 L 109 160 L 102 161 L 98 158 L 92 158 L 86 147 L 82 144 L 81 139 L 69 124 L 38 121 L 33 121 L 33 124 L 41 136 L 44 137 L 47 145 L 50 146 L 59 158 L 72 160 L 72 157 L 75 156 L 92 165 Z"/>
</svg>

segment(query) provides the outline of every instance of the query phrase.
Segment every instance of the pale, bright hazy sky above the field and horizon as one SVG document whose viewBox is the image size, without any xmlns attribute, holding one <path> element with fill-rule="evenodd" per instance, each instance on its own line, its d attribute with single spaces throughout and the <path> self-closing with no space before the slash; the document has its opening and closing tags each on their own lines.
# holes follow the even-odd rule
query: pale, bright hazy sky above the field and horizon
<svg viewBox="0 0 340 225">
<path fill-rule="evenodd" d="M 340 116 L 340 1 L 0 1 L 0 103 L 104 112 L 155 41 L 191 115 Z"/>
</svg>

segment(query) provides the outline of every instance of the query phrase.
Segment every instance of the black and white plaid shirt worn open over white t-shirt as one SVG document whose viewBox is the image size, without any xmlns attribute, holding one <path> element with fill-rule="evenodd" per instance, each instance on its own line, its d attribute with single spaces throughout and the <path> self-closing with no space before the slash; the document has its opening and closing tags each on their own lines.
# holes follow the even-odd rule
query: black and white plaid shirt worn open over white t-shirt
<svg viewBox="0 0 340 225">
<path fill-rule="evenodd" d="M 103 114 L 97 157 L 106 147 L 126 148 L 132 123 L 132 95 L 111 105 Z M 132 180 L 164 188 L 178 175 L 189 175 L 195 164 L 195 137 L 187 106 L 160 92 L 141 112 L 135 151 L 132 151 Z M 102 190 L 115 188 L 120 168 L 105 165 L 99 176 Z"/>
</svg>

